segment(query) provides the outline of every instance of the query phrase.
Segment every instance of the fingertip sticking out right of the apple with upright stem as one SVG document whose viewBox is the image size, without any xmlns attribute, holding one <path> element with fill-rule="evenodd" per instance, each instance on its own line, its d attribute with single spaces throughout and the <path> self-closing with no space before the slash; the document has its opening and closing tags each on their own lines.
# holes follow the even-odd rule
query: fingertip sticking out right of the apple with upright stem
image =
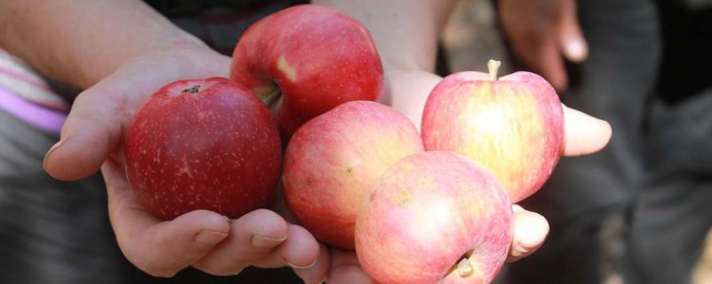
<svg viewBox="0 0 712 284">
<path fill-rule="evenodd" d="M 611 141 L 611 124 L 564 106 L 564 155 L 585 155 L 600 151 Z"/>
</svg>

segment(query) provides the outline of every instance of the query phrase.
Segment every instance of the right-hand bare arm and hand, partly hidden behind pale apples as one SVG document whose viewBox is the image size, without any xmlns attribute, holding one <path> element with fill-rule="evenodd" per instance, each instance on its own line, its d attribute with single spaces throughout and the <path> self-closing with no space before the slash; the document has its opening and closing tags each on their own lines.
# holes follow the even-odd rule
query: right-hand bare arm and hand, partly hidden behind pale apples
<svg viewBox="0 0 712 284">
<path fill-rule="evenodd" d="M 442 79 L 434 74 L 436 43 L 454 1 L 319 0 L 314 2 L 346 11 L 370 30 L 386 74 L 386 93 L 382 101 L 404 112 L 415 125 L 419 126 L 425 100 L 433 87 Z M 368 8 L 376 6 L 378 9 Z M 479 75 L 483 80 L 490 77 L 486 73 L 479 73 Z M 611 139 L 611 125 L 603 120 L 565 105 L 564 118 L 565 156 L 595 153 Z M 513 210 L 514 239 L 507 256 L 508 262 L 534 253 L 548 234 L 548 223 L 544 216 L 526 211 L 517 204 L 513 205 Z M 365 277 L 355 254 L 344 251 L 333 251 L 332 254 L 338 258 L 334 261 L 338 265 L 332 266 L 329 281 L 347 283 L 353 280 L 349 277 L 357 277 L 356 275 Z M 342 277 L 343 275 L 349 277 Z"/>
</svg>

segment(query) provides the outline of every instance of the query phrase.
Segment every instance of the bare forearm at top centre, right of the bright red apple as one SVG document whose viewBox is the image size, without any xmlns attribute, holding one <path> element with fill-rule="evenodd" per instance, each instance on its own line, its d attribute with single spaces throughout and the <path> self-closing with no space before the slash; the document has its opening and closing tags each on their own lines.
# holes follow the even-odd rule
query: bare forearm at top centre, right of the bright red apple
<svg viewBox="0 0 712 284">
<path fill-rule="evenodd" d="M 435 69 L 437 42 L 449 17 L 452 0 L 317 0 L 342 10 L 370 31 L 386 72 Z"/>
</svg>

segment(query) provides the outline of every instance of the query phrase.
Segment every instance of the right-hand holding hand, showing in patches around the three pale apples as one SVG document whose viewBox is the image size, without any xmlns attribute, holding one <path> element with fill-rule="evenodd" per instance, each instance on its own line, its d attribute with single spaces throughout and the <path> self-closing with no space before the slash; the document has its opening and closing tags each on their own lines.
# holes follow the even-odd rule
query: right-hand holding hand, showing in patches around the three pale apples
<svg viewBox="0 0 712 284">
<path fill-rule="evenodd" d="M 481 73 L 483 79 L 490 75 Z M 429 91 L 442 78 L 422 71 L 386 72 L 386 94 L 382 102 L 394 106 L 408 116 L 419 129 L 423 106 Z M 602 120 L 564 106 L 565 144 L 567 156 L 597 152 L 611 139 L 611 125 Z M 514 236 L 507 262 L 515 262 L 534 253 L 544 244 L 548 234 L 546 219 L 535 212 L 514 204 Z M 309 268 L 312 275 L 326 275 L 328 283 L 372 283 L 362 270 L 356 253 L 322 246 L 316 264 Z M 318 278 L 318 277 L 314 277 Z"/>
</svg>

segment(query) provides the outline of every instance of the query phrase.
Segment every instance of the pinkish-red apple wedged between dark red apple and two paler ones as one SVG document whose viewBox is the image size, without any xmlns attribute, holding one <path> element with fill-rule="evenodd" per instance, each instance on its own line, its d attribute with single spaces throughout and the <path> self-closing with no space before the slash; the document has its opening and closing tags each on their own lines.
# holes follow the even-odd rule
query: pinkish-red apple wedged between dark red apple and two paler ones
<svg viewBox="0 0 712 284">
<path fill-rule="evenodd" d="M 281 180 L 285 201 L 315 237 L 353 250 L 360 201 L 387 168 L 422 151 L 416 126 L 400 112 L 372 101 L 346 102 L 291 136 Z"/>
</svg>

